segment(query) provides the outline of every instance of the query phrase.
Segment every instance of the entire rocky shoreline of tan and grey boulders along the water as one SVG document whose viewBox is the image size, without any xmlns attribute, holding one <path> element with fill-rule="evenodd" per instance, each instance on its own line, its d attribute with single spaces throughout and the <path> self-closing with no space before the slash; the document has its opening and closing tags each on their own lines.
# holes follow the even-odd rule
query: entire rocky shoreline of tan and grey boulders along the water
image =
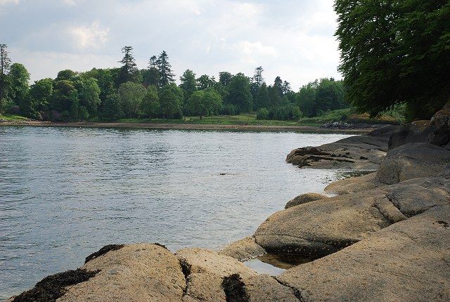
<svg viewBox="0 0 450 302">
<path fill-rule="evenodd" d="M 450 301 L 449 109 L 296 149 L 287 161 L 376 171 L 331 183 L 334 197 L 296 197 L 220 251 L 105 247 L 9 301 Z M 243 264 L 280 252 L 316 260 L 278 276 Z"/>
</svg>

